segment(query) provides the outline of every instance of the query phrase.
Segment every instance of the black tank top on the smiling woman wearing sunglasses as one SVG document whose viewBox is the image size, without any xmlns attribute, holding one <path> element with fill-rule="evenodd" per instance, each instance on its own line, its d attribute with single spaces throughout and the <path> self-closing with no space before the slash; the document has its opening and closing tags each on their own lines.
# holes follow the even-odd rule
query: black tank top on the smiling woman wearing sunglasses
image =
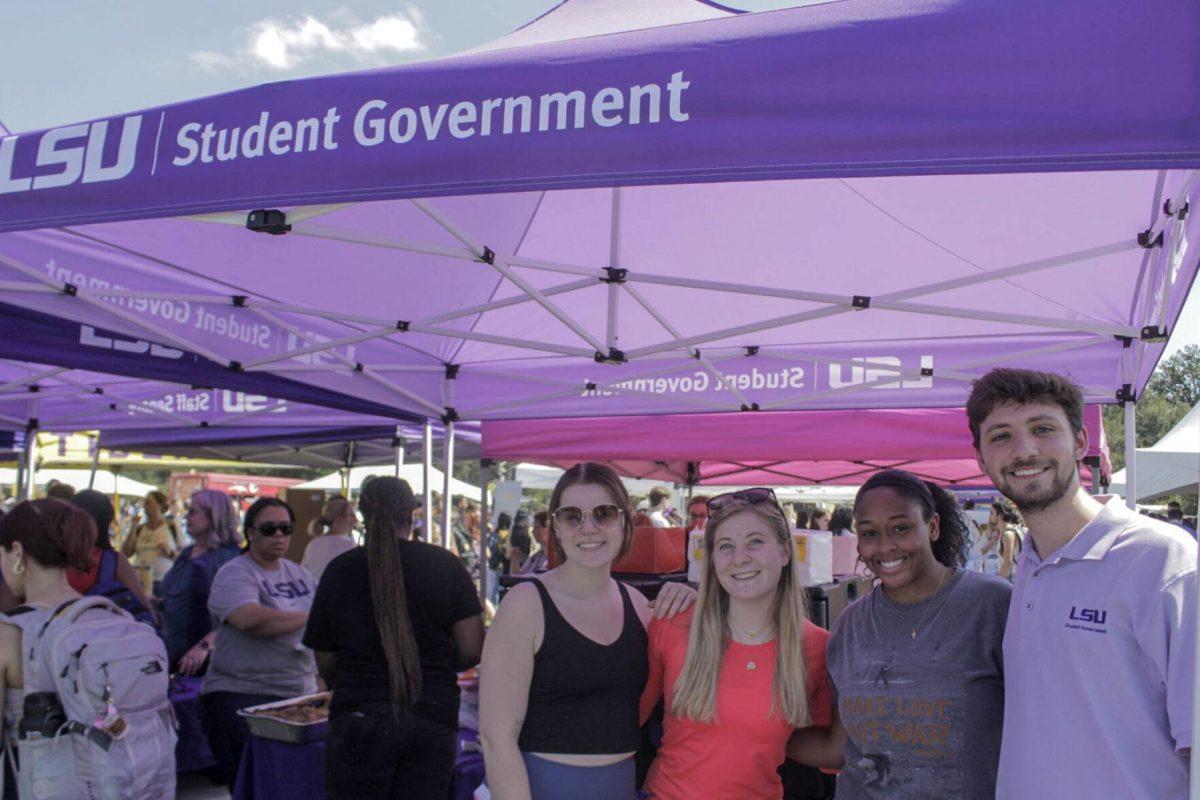
<svg viewBox="0 0 1200 800">
<path fill-rule="evenodd" d="M 635 752 L 641 744 L 637 703 L 649 676 L 646 628 L 620 583 L 625 619 L 605 646 L 576 631 L 541 581 L 545 620 L 533 658 L 529 705 L 517 745 L 526 752 L 599 756 Z"/>
</svg>

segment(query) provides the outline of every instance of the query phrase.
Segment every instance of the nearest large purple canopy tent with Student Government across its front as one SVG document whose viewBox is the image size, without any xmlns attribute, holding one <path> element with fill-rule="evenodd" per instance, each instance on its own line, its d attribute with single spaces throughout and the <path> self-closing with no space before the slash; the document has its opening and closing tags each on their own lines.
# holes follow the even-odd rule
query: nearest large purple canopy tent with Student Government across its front
<svg viewBox="0 0 1200 800">
<path fill-rule="evenodd" d="M 1007 365 L 1124 402 L 1132 452 L 1200 260 L 1200 6 L 646 5 L 0 138 L 0 288 L 448 426 Z"/>
</svg>

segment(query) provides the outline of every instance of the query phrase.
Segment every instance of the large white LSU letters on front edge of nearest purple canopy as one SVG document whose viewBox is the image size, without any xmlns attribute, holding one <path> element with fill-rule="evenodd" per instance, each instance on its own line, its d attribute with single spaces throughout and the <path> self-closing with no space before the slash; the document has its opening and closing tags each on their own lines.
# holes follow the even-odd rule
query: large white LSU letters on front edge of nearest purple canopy
<svg viewBox="0 0 1200 800">
<path fill-rule="evenodd" d="M 126 116 L 121 121 L 116 161 L 108 164 L 104 163 L 104 145 L 109 137 L 109 120 L 53 128 L 42 133 L 41 139 L 5 137 L 0 139 L 0 194 L 70 186 L 80 179 L 84 184 L 120 180 L 133 172 L 140 133 L 142 115 Z M 37 155 L 32 169 L 17 168 L 18 151 L 20 163 L 25 164 L 29 162 L 26 154 L 35 146 Z M 113 149 L 108 150 L 110 154 Z M 22 175 L 22 172 L 25 174 Z"/>
</svg>

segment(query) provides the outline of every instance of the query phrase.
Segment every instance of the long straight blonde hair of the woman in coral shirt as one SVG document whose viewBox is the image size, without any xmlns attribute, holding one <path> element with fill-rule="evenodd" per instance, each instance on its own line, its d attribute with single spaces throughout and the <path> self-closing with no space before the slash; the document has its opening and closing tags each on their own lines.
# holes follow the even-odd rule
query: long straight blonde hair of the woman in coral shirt
<svg viewBox="0 0 1200 800">
<path fill-rule="evenodd" d="M 804 669 L 804 622 L 808 619 L 808 595 L 800 585 L 800 571 L 792 545 L 792 531 L 782 511 L 774 504 L 750 504 L 733 500 L 713 513 L 704 530 L 704 552 L 712 554 L 716 533 L 731 517 L 748 512 L 768 523 L 775 539 L 787 547 L 788 559 L 779 576 L 773 608 L 775 622 L 775 678 L 772 684 L 772 714 L 788 724 L 803 728 L 809 716 L 808 675 Z M 710 555 L 704 558 L 700 599 L 688 636 L 688 656 L 674 685 L 671 710 L 678 717 L 697 722 L 716 721 L 716 686 L 721 660 L 728 646 L 730 596 L 716 579 Z"/>
</svg>

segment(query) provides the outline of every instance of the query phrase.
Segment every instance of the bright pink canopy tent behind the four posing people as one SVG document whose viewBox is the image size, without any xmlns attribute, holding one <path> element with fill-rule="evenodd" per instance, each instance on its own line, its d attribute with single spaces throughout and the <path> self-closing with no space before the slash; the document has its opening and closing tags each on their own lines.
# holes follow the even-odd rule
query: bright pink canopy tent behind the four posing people
<svg viewBox="0 0 1200 800">
<path fill-rule="evenodd" d="M 1100 408 L 1084 413 L 1102 482 L 1112 473 Z M 566 468 L 601 461 L 629 477 L 673 483 L 856 485 L 896 467 L 953 487 L 990 486 L 961 408 L 487 420 L 484 456 Z"/>
</svg>

